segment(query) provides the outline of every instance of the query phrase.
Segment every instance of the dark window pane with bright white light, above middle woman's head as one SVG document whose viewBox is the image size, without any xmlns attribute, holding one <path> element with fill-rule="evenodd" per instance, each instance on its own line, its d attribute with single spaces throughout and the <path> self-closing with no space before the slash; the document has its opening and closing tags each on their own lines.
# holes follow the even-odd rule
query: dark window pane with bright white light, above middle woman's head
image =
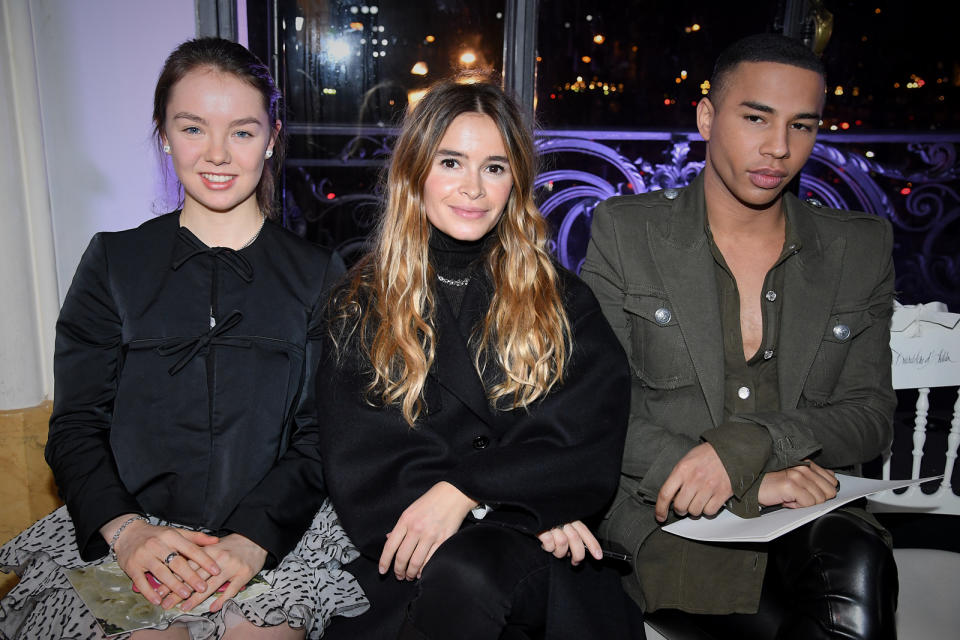
<svg viewBox="0 0 960 640">
<path fill-rule="evenodd" d="M 503 4 L 280 2 L 290 122 L 396 124 L 411 93 L 431 82 L 499 71 Z"/>
</svg>

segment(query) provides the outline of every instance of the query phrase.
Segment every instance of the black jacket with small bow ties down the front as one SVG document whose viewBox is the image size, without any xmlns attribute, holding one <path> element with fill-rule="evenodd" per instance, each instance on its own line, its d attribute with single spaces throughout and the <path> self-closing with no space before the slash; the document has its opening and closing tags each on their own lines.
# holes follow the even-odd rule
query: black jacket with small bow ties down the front
<svg viewBox="0 0 960 640">
<path fill-rule="evenodd" d="M 324 498 L 318 461 L 290 456 L 253 489 L 316 425 L 316 338 L 342 271 L 269 223 L 237 252 L 176 214 L 94 236 L 57 322 L 46 450 L 85 559 L 127 512 L 242 533 L 271 564 L 293 548 Z"/>
</svg>

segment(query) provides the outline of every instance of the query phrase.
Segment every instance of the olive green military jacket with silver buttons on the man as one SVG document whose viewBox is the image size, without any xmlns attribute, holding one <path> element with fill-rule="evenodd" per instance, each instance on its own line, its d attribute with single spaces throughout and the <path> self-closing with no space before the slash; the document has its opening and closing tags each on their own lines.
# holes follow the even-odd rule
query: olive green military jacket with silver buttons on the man
<svg viewBox="0 0 960 640">
<path fill-rule="evenodd" d="M 893 437 L 890 224 L 792 194 L 784 202 L 801 248 L 783 265 L 781 410 L 727 417 L 746 423 L 745 434 L 756 434 L 759 426 L 770 436 L 756 443 L 770 452 L 763 470 L 737 478 L 728 468 L 738 496 L 763 471 L 804 458 L 858 473 Z M 581 271 L 630 359 L 631 415 L 620 486 L 600 534 L 625 547 L 635 563 L 640 546 L 659 527 L 653 505 L 661 485 L 705 432 L 725 421 L 720 302 L 705 219 L 702 177 L 682 190 L 610 198 L 594 212 Z M 745 448 L 753 446 L 749 435 L 745 440 Z M 742 513 L 735 502 L 729 506 Z M 766 555 L 762 549 L 713 547 L 730 556 L 720 566 L 742 570 L 708 576 L 696 586 L 669 580 L 645 584 L 641 592 L 635 579 L 625 586 L 648 610 L 742 611 L 743 598 L 759 598 Z M 660 560 L 678 571 L 684 561 L 689 558 Z M 739 596 L 730 595 L 731 585 L 740 587 Z"/>
</svg>

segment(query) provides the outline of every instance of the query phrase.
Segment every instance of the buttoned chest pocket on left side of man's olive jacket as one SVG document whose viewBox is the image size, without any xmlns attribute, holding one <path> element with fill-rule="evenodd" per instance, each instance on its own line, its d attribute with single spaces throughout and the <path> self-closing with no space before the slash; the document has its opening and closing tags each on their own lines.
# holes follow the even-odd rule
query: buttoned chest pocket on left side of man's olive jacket
<svg viewBox="0 0 960 640">
<path fill-rule="evenodd" d="M 630 321 L 630 365 L 635 376 L 655 389 L 693 384 L 693 361 L 666 296 L 628 294 L 623 309 Z"/>
</svg>

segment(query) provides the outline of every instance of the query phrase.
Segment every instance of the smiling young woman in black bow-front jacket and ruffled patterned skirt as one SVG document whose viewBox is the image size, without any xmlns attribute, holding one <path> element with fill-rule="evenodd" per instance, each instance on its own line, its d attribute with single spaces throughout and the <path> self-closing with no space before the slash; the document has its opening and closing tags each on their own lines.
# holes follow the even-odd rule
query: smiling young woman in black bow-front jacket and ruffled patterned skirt
<svg viewBox="0 0 960 640">
<path fill-rule="evenodd" d="M 318 338 L 343 265 L 269 220 L 279 104 L 236 43 L 193 40 L 167 60 L 154 125 L 181 208 L 97 234 L 77 268 L 46 449 L 66 507 L 0 550 L 23 576 L 0 636 L 101 637 L 63 570 L 113 559 L 155 605 L 216 596 L 135 638 L 302 638 L 366 608 L 339 569 L 356 551 L 320 508 L 320 466 L 290 450 L 318 421 Z M 291 553 L 304 531 L 315 544 Z M 261 569 L 272 589 L 233 600 Z"/>
</svg>

